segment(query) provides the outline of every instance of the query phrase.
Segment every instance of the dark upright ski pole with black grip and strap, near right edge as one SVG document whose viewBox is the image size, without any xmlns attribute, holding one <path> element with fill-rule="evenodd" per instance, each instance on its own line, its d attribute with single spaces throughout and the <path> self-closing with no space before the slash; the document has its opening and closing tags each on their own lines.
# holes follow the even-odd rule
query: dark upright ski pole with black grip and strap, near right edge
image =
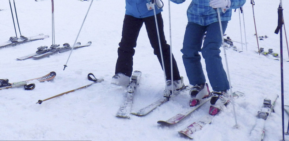
<svg viewBox="0 0 289 141">
<path fill-rule="evenodd" d="M 284 85 L 283 85 L 283 43 L 282 43 L 282 25 L 283 25 L 283 8 L 282 0 L 278 8 L 278 26 L 275 33 L 278 34 L 280 31 L 280 63 L 281 63 L 281 108 L 282 108 L 282 137 L 284 139 Z"/>
</svg>

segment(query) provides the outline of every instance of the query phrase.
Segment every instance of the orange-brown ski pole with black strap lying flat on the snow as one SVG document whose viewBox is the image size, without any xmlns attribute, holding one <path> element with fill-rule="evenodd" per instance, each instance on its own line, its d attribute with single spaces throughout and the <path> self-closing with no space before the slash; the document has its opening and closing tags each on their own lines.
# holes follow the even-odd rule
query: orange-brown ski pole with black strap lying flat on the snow
<svg viewBox="0 0 289 141">
<path fill-rule="evenodd" d="M 75 92 L 75 91 L 77 91 L 77 90 L 87 88 L 87 87 L 93 85 L 94 83 L 100 83 L 100 82 L 104 81 L 103 78 L 101 78 L 101 79 L 96 79 L 95 77 L 94 77 L 94 78 L 91 78 L 90 75 L 94 77 L 94 75 L 93 75 L 92 73 L 89 73 L 89 74 L 87 75 L 87 78 L 88 78 L 88 80 L 93 81 L 93 83 L 90 83 L 90 84 L 88 84 L 88 85 L 82 86 L 82 87 L 77 88 L 77 89 L 74 89 L 74 90 L 70 90 L 70 91 L 67 91 L 67 92 L 63 92 L 63 93 L 61 93 L 61 94 L 58 94 L 58 95 L 56 95 L 56 96 L 52 96 L 52 97 L 47 98 L 47 99 L 44 99 L 44 100 L 38 100 L 37 103 L 38 103 L 38 104 L 41 104 L 41 103 L 43 103 L 43 102 L 46 101 L 46 100 L 53 99 L 53 98 L 55 98 L 55 97 L 62 96 L 62 95 L 64 95 L 64 94 L 67 94 L 67 93 L 70 93 L 70 92 Z M 36 104 L 37 104 L 37 103 L 36 103 Z"/>
</svg>

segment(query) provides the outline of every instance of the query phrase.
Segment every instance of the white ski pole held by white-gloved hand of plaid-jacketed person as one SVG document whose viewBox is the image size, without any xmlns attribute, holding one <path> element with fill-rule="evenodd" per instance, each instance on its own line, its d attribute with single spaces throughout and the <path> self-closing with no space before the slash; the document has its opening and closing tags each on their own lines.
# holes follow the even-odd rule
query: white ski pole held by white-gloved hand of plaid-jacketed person
<svg viewBox="0 0 289 141">
<path fill-rule="evenodd" d="M 222 38 L 222 47 L 224 49 L 224 56 L 225 56 L 225 61 L 226 61 L 226 67 L 227 67 L 227 75 L 228 75 L 228 80 L 229 80 L 229 88 L 230 88 L 230 96 L 232 99 L 232 105 L 233 105 L 233 112 L 234 112 L 234 118 L 235 118 L 235 128 L 238 128 L 238 124 L 237 124 L 237 116 L 236 116 L 236 112 L 235 112 L 235 102 L 234 102 L 234 98 L 232 98 L 233 92 L 232 92 L 232 85 L 231 85 L 231 78 L 230 78 L 230 73 L 229 73 L 229 66 L 228 66 L 228 59 L 227 59 L 227 54 L 226 54 L 226 49 L 225 49 L 225 41 L 223 38 L 223 29 L 222 29 L 222 21 L 221 21 L 221 16 L 220 16 L 220 11 L 219 8 L 217 8 L 217 13 L 218 13 L 218 19 L 219 19 L 219 24 L 220 24 L 220 31 L 221 31 L 221 38 Z"/>
</svg>

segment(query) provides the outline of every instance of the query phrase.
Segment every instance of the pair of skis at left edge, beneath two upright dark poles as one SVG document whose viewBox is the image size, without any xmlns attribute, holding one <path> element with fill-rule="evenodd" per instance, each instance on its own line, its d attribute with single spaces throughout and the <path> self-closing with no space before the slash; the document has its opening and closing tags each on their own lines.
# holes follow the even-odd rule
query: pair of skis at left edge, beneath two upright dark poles
<svg viewBox="0 0 289 141">
<path fill-rule="evenodd" d="M 16 37 L 10 37 L 9 41 L 0 44 L 0 48 L 12 46 L 12 45 L 19 45 L 25 42 L 31 42 L 31 41 L 36 41 L 36 40 L 42 40 L 45 38 L 48 38 L 49 35 L 44 35 L 44 34 L 39 34 L 36 36 L 31 36 L 31 37 L 25 37 L 25 36 L 20 36 L 20 38 Z"/>
</svg>

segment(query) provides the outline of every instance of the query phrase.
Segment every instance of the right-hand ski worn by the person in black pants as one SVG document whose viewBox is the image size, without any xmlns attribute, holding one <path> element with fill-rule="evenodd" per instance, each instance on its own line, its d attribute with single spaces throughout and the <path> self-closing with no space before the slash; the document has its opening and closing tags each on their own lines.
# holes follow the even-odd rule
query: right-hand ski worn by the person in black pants
<svg viewBox="0 0 289 141">
<path fill-rule="evenodd" d="M 187 86 L 185 86 L 184 88 L 180 89 L 180 91 L 186 89 Z M 179 92 L 177 92 L 175 95 L 177 96 L 179 94 Z M 151 112 L 152 110 L 154 110 L 155 108 L 157 108 L 158 106 L 162 105 L 163 103 L 169 101 L 169 97 L 163 96 L 162 98 L 158 99 L 157 101 L 151 103 L 150 105 L 136 111 L 133 112 L 131 114 L 133 115 L 137 115 L 137 116 L 144 116 L 146 114 L 148 114 L 149 112 Z"/>
</svg>

